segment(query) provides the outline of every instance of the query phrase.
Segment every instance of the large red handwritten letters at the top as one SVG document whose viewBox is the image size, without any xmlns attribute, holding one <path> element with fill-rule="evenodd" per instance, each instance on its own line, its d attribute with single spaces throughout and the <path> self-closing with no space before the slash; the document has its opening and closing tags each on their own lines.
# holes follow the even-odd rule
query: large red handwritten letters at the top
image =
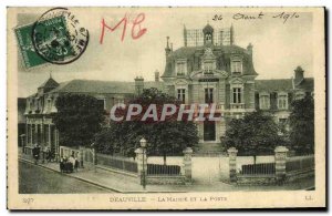
<svg viewBox="0 0 332 216">
<path fill-rule="evenodd" d="M 146 28 L 141 27 L 141 23 L 145 20 L 145 14 L 144 13 L 139 13 L 137 14 L 137 17 L 135 18 L 135 20 L 132 23 L 132 39 L 136 40 L 139 39 L 143 34 L 145 34 L 145 32 L 147 31 Z M 123 29 L 122 29 L 122 37 L 121 37 L 121 41 L 124 40 L 125 35 L 126 35 L 126 29 L 128 25 L 128 17 L 127 14 L 124 16 L 124 18 L 117 22 L 117 24 L 115 27 L 110 27 L 106 24 L 104 18 L 102 19 L 102 32 L 101 32 L 101 38 L 100 38 L 100 43 L 103 44 L 104 42 L 104 37 L 105 37 L 105 29 L 110 30 L 111 32 L 115 31 L 117 28 L 120 28 L 120 25 L 123 24 Z"/>
</svg>

